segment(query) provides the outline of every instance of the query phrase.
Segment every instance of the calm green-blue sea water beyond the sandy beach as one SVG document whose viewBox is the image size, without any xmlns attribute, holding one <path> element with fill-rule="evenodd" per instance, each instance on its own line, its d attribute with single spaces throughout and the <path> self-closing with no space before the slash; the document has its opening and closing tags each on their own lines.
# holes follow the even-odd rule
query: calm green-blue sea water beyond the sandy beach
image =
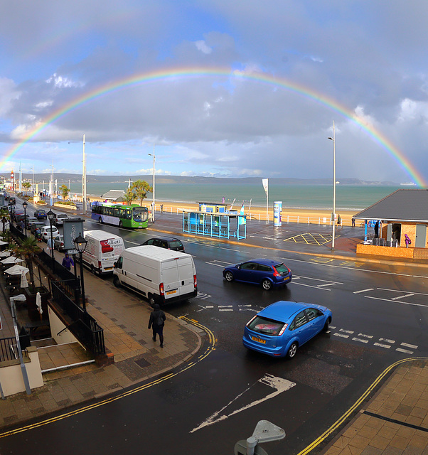
<svg viewBox="0 0 428 455">
<path fill-rule="evenodd" d="M 149 182 L 151 183 L 151 182 Z M 68 185 L 68 183 L 66 183 Z M 126 190 L 124 183 L 87 183 L 87 194 L 101 196 L 109 190 Z M 337 210 L 355 210 L 367 208 L 378 200 L 402 186 L 336 186 Z M 406 187 L 404 187 L 406 188 Z M 82 193 L 81 183 L 71 183 L 71 193 Z M 266 194 L 260 185 L 225 185 L 225 184 L 172 184 L 156 185 L 156 202 L 218 202 L 223 197 L 225 202 L 234 206 L 250 205 L 266 207 Z M 149 194 L 151 199 L 151 194 Z M 269 206 L 275 200 L 282 200 L 283 208 L 312 208 L 331 210 L 333 206 L 333 188 L 328 185 L 274 185 L 269 184 Z"/>
</svg>

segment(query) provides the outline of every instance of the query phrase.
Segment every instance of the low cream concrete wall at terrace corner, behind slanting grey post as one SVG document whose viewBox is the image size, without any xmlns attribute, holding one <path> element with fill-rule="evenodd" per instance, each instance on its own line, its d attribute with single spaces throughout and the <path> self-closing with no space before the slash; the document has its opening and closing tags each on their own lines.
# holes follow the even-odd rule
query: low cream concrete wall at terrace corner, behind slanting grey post
<svg viewBox="0 0 428 455">
<path fill-rule="evenodd" d="M 25 361 L 30 388 L 43 386 L 40 361 L 38 360 L 37 348 L 28 347 L 29 360 Z M 19 360 L 8 360 L 0 363 L 0 382 L 5 397 L 25 392 L 26 386 L 23 382 L 21 363 Z"/>
</svg>

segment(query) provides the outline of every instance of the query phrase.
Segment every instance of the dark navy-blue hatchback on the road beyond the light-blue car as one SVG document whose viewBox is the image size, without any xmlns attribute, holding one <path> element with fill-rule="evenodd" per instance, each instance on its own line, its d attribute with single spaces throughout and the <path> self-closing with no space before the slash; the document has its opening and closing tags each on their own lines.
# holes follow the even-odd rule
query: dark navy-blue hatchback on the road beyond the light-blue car
<svg viewBox="0 0 428 455">
<path fill-rule="evenodd" d="M 291 270 L 282 262 L 272 259 L 251 259 L 223 269 L 226 281 L 260 284 L 268 291 L 272 287 L 284 286 L 291 282 Z"/>
</svg>

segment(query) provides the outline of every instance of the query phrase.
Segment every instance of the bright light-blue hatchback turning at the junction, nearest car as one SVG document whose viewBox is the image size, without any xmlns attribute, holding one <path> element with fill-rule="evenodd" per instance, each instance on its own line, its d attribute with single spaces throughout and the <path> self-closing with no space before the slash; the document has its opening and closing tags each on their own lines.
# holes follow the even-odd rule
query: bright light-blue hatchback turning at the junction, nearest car
<svg viewBox="0 0 428 455">
<path fill-rule="evenodd" d="M 332 317 L 325 306 L 277 301 L 247 322 L 242 342 L 260 353 L 293 358 L 299 346 L 328 331 Z"/>
</svg>

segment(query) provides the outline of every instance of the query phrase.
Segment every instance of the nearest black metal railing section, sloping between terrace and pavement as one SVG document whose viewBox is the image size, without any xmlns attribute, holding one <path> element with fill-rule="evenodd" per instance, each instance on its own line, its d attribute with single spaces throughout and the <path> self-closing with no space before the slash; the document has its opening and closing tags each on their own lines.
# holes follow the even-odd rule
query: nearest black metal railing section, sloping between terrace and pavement
<svg viewBox="0 0 428 455">
<path fill-rule="evenodd" d="M 52 282 L 53 301 L 71 319 L 72 322 L 68 329 L 77 340 L 93 355 L 105 354 L 104 330 L 90 314 L 83 311 L 70 299 L 70 296 L 65 292 L 65 288 L 69 285 L 71 285 L 69 282 Z"/>
</svg>

